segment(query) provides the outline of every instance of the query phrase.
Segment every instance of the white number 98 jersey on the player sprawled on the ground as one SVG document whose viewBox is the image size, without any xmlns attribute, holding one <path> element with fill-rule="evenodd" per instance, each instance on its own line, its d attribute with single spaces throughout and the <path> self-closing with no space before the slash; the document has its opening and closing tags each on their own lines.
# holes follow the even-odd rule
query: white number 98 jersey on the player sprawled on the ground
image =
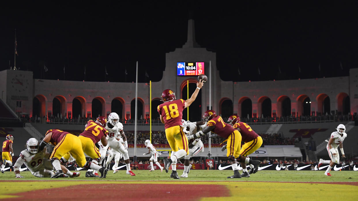
<svg viewBox="0 0 358 201">
<path fill-rule="evenodd" d="M 16 160 L 15 166 L 21 167 L 25 164 L 31 172 L 37 172 L 43 165 L 45 152 L 38 152 L 31 155 L 27 149 L 21 151 L 18 160 Z"/>
</svg>

